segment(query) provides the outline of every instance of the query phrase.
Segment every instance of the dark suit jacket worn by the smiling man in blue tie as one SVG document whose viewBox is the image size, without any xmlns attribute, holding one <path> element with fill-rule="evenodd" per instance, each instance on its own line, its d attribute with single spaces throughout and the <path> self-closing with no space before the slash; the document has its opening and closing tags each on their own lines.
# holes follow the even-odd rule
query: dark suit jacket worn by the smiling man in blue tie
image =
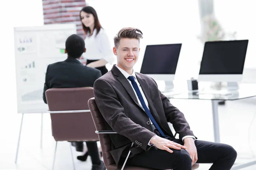
<svg viewBox="0 0 256 170">
<path fill-rule="evenodd" d="M 136 73 L 136 77 L 148 100 L 149 109 L 163 132 L 173 137 L 168 125 L 171 122 L 179 133 L 180 140 L 186 135 L 194 136 L 183 113 L 161 94 L 156 82 L 144 74 Z M 133 154 L 148 150 L 148 142 L 155 133 L 151 124 L 147 124 L 149 118 L 140 107 L 132 86 L 115 65 L 111 71 L 96 80 L 94 96 L 99 111 L 108 123 L 108 130 L 118 133 L 110 135 L 113 144 L 111 155 L 116 164 L 127 147 L 131 146 L 131 142 L 134 142 L 131 149 Z"/>
</svg>

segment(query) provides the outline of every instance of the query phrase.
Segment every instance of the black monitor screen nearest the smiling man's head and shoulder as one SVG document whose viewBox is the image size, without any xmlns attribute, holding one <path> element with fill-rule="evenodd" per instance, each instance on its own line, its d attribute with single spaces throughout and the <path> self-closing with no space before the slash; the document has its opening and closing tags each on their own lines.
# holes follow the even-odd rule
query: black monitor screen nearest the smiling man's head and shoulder
<svg viewBox="0 0 256 170">
<path fill-rule="evenodd" d="M 175 74 L 181 44 L 147 45 L 140 73 Z"/>
</svg>

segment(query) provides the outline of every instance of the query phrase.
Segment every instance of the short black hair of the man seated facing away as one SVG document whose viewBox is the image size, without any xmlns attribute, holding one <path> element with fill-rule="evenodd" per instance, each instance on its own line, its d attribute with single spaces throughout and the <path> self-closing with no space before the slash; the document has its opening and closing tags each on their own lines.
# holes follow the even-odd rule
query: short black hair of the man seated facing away
<svg viewBox="0 0 256 170">
<path fill-rule="evenodd" d="M 77 34 L 70 35 L 66 40 L 67 57 L 79 58 L 84 52 L 84 39 Z"/>
</svg>

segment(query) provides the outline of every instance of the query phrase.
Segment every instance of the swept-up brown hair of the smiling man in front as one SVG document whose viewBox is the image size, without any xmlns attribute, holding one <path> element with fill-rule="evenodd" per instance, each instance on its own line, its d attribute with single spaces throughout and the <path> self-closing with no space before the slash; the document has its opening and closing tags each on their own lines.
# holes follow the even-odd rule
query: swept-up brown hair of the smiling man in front
<svg viewBox="0 0 256 170">
<path fill-rule="evenodd" d="M 117 48 L 119 46 L 121 38 L 135 38 L 140 42 L 140 39 L 143 38 L 142 36 L 143 34 L 139 29 L 125 27 L 118 31 L 118 33 L 114 37 L 114 45 Z"/>
</svg>

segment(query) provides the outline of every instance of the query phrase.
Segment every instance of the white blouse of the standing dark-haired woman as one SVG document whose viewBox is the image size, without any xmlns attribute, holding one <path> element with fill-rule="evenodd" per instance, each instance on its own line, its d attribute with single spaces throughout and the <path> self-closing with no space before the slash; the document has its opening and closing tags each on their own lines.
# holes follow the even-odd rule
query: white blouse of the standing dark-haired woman
<svg viewBox="0 0 256 170">
<path fill-rule="evenodd" d="M 83 57 L 91 60 L 105 59 L 112 65 L 115 58 L 108 36 L 103 28 L 100 29 L 97 35 L 96 32 L 97 30 L 94 29 L 91 36 L 85 37 L 86 52 L 83 54 Z"/>
</svg>

